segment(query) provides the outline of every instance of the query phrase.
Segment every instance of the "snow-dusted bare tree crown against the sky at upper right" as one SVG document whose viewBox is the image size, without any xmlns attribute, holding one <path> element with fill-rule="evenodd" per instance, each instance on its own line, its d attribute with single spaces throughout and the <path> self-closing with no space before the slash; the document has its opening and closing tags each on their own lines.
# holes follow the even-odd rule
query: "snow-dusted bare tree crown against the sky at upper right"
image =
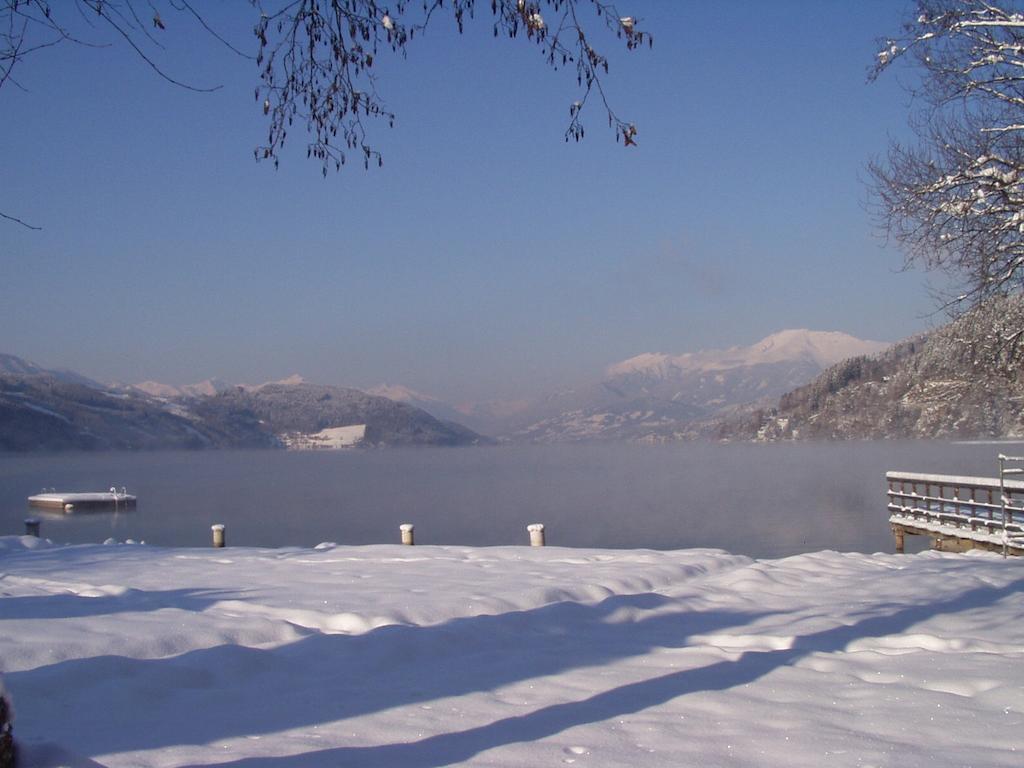
<svg viewBox="0 0 1024 768">
<path fill-rule="evenodd" d="M 919 0 L 883 41 L 877 76 L 913 63 L 913 146 L 870 166 L 883 226 L 908 265 L 945 270 L 963 310 L 1024 291 L 1024 9 L 1019 2 Z M 1024 332 L 1024 328 L 1011 331 Z"/>
</svg>

